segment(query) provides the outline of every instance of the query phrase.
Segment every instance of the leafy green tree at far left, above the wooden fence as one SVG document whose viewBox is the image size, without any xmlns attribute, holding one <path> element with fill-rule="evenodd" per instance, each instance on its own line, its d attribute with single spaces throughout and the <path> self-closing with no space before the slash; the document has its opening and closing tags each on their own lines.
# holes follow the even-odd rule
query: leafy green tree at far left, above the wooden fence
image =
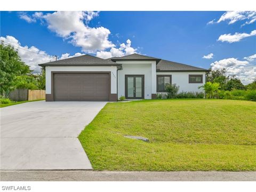
<svg viewBox="0 0 256 192">
<path fill-rule="evenodd" d="M 0 44 L 0 94 L 8 95 L 15 89 L 17 76 L 27 75 L 31 71 L 23 61 L 18 52 L 11 45 Z"/>
</svg>

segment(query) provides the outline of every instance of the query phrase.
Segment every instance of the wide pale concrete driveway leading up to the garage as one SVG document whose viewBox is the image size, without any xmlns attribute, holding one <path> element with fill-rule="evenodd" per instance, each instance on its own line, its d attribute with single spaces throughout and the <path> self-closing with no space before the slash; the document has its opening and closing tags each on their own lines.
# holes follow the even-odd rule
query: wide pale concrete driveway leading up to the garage
<svg viewBox="0 0 256 192">
<path fill-rule="evenodd" d="M 35 101 L 1 108 L 1 170 L 92 169 L 77 136 L 106 103 Z"/>
</svg>

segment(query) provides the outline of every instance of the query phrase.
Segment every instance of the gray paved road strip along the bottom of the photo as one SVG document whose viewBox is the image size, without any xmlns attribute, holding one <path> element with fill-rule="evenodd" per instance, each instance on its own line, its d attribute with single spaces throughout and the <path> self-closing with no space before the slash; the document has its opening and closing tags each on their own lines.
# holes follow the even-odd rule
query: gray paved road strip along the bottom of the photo
<svg viewBox="0 0 256 192">
<path fill-rule="evenodd" d="M 256 181 L 256 172 L 1 171 L 1 181 Z"/>
</svg>

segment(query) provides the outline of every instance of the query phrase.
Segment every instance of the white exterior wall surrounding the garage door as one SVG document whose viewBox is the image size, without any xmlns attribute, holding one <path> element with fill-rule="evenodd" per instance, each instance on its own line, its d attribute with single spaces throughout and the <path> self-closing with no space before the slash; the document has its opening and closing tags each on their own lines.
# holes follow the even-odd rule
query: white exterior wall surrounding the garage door
<svg viewBox="0 0 256 192">
<path fill-rule="evenodd" d="M 110 101 L 116 100 L 114 96 L 117 94 L 117 67 L 116 66 L 46 66 L 45 68 L 45 90 L 46 90 L 46 101 L 53 100 L 51 92 L 51 72 L 52 71 L 110 71 L 111 73 L 111 98 Z"/>
</svg>

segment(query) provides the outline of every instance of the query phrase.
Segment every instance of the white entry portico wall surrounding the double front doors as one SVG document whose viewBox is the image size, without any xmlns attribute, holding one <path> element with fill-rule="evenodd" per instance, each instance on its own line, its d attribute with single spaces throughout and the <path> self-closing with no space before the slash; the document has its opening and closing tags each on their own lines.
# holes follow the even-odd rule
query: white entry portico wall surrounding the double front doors
<svg viewBox="0 0 256 192">
<path fill-rule="evenodd" d="M 116 61 L 122 64 L 118 70 L 117 97 L 125 95 L 125 75 L 145 75 L 145 99 L 156 93 L 156 61 Z"/>
</svg>

